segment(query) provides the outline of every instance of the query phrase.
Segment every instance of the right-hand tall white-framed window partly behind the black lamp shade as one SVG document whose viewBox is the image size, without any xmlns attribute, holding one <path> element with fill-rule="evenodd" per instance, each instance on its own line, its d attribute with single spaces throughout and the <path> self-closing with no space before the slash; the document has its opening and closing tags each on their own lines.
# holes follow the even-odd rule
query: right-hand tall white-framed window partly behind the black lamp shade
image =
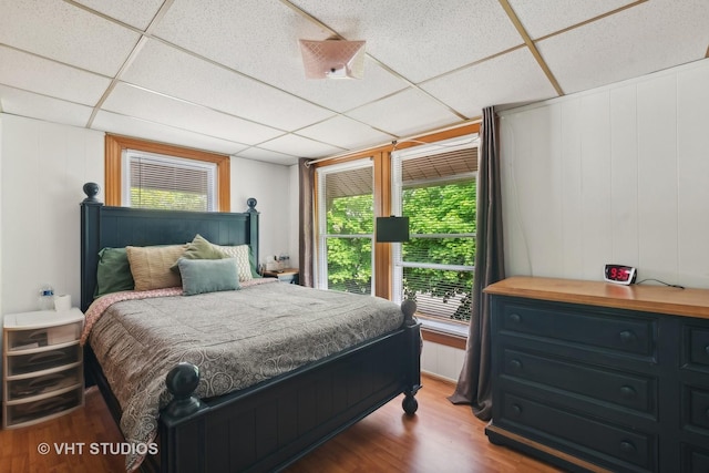
<svg viewBox="0 0 709 473">
<path fill-rule="evenodd" d="M 410 240 L 393 245 L 394 299 L 418 312 L 469 321 L 476 228 L 476 136 L 392 154 L 392 210 Z"/>
</svg>

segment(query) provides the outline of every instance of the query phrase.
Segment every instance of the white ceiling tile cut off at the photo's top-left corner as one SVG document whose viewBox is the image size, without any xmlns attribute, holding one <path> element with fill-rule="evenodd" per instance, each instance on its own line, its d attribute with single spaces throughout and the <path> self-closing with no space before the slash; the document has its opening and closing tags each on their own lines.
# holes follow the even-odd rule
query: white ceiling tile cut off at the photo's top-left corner
<svg viewBox="0 0 709 473">
<path fill-rule="evenodd" d="M 63 1 L 0 0 L 0 43 L 110 76 L 138 40 L 138 33 Z"/>
</svg>

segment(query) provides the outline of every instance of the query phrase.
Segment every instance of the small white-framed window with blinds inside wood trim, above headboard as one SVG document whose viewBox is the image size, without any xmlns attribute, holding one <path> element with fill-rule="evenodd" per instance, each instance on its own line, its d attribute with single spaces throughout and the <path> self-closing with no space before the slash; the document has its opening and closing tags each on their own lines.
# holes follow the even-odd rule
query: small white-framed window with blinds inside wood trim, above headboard
<svg viewBox="0 0 709 473">
<path fill-rule="evenodd" d="M 215 163 L 124 151 L 123 205 L 140 208 L 214 212 Z"/>
</svg>

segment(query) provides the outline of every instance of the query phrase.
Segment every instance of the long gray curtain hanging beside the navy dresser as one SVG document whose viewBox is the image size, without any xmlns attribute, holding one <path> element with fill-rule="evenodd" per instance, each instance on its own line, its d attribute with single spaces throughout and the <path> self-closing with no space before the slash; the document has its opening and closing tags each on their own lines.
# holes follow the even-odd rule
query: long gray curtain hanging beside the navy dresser
<svg viewBox="0 0 709 473">
<path fill-rule="evenodd" d="M 455 392 L 449 400 L 456 404 L 471 404 L 475 417 L 490 420 L 492 414 L 490 296 L 483 294 L 483 289 L 505 277 L 500 156 L 495 112 L 492 106 L 483 110 L 480 137 L 475 276 L 470 332 L 463 369 Z"/>
</svg>

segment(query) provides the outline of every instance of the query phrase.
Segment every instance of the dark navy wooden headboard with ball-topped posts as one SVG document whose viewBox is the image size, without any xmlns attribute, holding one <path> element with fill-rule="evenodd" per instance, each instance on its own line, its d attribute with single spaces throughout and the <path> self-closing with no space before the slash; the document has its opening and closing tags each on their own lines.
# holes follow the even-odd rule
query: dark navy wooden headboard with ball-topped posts
<svg viewBox="0 0 709 473">
<path fill-rule="evenodd" d="M 256 199 L 244 213 L 148 210 L 107 207 L 95 198 L 97 186 L 84 185 L 81 203 L 81 310 L 93 301 L 102 248 L 185 244 L 196 234 L 217 245 L 249 245 L 258 261 Z"/>
</svg>

